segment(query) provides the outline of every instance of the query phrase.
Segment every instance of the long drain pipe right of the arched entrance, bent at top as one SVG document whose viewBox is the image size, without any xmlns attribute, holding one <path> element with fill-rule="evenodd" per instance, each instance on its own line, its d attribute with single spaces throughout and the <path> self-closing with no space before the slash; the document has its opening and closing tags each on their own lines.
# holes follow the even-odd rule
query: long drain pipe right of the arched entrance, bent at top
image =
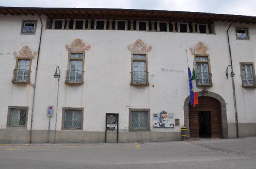
<svg viewBox="0 0 256 169">
<path fill-rule="evenodd" d="M 235 18 L 233 18 L 233 20 L 231 21 L 228 29 L 227 29 L 227 35 L 228 35 L 228 30 L 230 28 L 230 26 L 232 25 L 233 21 Z M 233 88 L 233 99 L 234 99 L 234 108 L 235 108 L 235 120 L 236 120 L 236 137 L 239 138 L 239 130 L 238 130 L 238 115 L 237 115 L 237 106 L 236 106 L 236 91 L 235 91 L 235 82 L 234 82 L 234 76 L 235 73 L 233 72 L 233 63 L 232 63 L 232 55 L 231 55 L 231 49 L 230 49 L 230 42 L 229 42 L 229 35 L 228 35 L 228 48 L 229 48 L 229 57 L 230 57 L 230 64 L 229 66 L 231 66 L 231 73 L 230 76 L 232 78 L 232 88 Z M 228 67 L 229 67 L 228 66 Z M 228 70 L 227 67 L 227 70 Z"/>
</svg>

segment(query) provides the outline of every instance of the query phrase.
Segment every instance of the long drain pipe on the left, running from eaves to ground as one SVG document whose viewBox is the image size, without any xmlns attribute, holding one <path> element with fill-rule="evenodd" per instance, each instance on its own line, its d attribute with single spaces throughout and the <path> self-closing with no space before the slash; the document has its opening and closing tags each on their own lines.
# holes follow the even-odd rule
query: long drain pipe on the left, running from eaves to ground
<svg viewBox="0 0 256 169">
<path fill-rule="evenodd" d="M 35 104 L 35 87 L 37 83 L 37 69 L 38 69 L 38 61 L 39 61 L 39 54 L 40 54 L 40 47 L 41 47 L 41 39 L 42 39 L 42 19 L 39 14 L 39 10 L 37 10 L 37 14 L 39 16 L 40 22 L 41 22 L 41 32 L 40 32 L 40 40 L 39 40 L 39 45 L 38 45 L 38 54 L 37 54 L 37 66 L 35 68 L 35 82 L 33 85 L 34 92 L 33 92 L 33 101 L 32 101 L 32 110 L 31 110 L 31 122 L 30 122 L 30 137 L 29 137 L 29 143 L 32 143 L 32 125 L 33 125 L 33 112 L 34 112 L 34 104 Z"/>
</svg>

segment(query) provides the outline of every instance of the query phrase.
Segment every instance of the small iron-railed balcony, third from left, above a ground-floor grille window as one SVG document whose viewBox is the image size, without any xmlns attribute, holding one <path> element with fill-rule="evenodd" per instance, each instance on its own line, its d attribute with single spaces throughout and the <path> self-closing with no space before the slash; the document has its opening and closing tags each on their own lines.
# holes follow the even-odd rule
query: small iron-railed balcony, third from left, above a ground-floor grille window
<svg viewBox="0 0 256 169">
<path fill-rule="evenodd" d="M 148 86 L 149 85 L 149 72 L 134 71 L 131 72 L 131 85 L 133 86 Z"/>
</svg>

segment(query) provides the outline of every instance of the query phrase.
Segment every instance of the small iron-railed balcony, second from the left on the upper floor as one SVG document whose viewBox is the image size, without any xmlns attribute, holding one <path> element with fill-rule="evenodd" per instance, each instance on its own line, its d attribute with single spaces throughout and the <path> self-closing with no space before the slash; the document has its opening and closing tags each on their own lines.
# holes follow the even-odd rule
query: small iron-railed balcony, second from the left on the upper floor
<svg viewBox="0 0 256 169">
<path fill-rule="evenodd" d="M 83 84 L 83 72 L 81 70 L 66 71 L 66 84 Z"/>
</svg>

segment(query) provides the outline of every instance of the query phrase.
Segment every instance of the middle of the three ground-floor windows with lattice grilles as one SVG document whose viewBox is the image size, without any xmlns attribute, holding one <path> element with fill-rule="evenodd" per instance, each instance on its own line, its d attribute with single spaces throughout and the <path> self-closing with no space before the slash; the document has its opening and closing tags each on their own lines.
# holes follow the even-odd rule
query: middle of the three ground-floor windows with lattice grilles
<svg viewBox="0 0 256 169">
<path fill-rule="evenodd" d="M 63 108 L 62 130 L 83 129 L 83 108 Z"/>
</svg>

